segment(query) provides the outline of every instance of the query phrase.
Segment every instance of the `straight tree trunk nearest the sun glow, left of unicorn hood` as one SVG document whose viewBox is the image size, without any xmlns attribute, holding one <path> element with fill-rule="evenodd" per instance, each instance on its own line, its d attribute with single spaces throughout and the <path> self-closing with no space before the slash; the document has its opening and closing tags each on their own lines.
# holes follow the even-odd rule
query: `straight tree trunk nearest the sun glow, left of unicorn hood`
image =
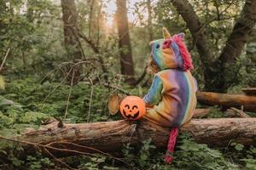
<svg viewBox="0 0 256 170">
<path fill-rule="evenodd" d="M 129 26 L 127 18 L 127 8 L 125 0 L 117 0 L 116 21 L 119 33 L 120 66 L 121 73 L 125 76 L 126 82 L 134 82 L 134 67 L 131 54 L 131 42 L 129 36 Z"/>
</svg>

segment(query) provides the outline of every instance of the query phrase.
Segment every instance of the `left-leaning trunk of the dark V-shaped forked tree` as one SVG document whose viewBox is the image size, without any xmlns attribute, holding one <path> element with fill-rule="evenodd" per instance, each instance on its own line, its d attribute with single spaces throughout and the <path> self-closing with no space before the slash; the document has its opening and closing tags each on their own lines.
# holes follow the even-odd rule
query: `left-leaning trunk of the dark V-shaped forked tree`
<svg viewBox="0 0 256 170">
<path fill-rule="evenodd" d="M 205 88 L 214 91 L 216 90 L 215 85 L 218 83 L 218 80 L 212 79 L 212 77 L 216 75 L 216 70 L 214 69 L 214 56 L 207 41 L 205 27 L 201 24 L 198 15 L 195 14 L 188 0 L 171 0 L 171 2 L 173 6 L 177 8 L 177 13 L 180 14 L 187 23 L 195 46 L 200 54 L 204 70 Z M 212 82 L 212 80 L 215 82 Z"/>
</svg>

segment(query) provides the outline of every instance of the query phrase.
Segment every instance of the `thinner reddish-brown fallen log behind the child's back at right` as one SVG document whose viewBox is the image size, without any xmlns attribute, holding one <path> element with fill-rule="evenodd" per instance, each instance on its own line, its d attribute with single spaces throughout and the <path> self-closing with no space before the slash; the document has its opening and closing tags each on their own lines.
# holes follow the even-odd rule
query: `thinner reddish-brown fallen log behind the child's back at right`
<svg viewBox="0 0 256 170">
<path fill-rule="evenodd" d="M 201 104 L 220 105 L 224 109 L 236 107 L 243 111 L 256 111 L 256 96 L 244 94 L 218 94 L 212 92 L 196 92 L 197 101 Z"/>
</svg>

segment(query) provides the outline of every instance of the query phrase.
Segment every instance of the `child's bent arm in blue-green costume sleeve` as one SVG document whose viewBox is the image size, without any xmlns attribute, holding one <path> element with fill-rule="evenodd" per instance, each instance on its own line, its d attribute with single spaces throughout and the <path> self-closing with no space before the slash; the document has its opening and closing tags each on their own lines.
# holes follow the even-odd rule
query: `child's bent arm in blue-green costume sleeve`
<svg viewBox="0 0 256 170">
<path fill-rule="evenodd" d="M 163 89 L 163 82 L 160 77 L 155 75 L 151 87 L 148 90 L 148 94 L 143 97 L 146 106 L 157 105 L 160 102 Z"/>
</svg>

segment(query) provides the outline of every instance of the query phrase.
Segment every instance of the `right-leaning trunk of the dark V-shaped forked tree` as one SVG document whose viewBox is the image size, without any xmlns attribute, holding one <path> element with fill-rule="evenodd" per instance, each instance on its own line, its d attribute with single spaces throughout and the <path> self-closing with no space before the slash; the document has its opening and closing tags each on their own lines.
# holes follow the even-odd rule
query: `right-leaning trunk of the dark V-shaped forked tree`
<svg viewBox="0 0 256 170">
<path fill-rule="evenodd" d="M 221 74 L 218 75 L 218 77 L 220 76 L 220 86 L 216 88 L 219 88 L 222 92 L 229 88 L 232 82 L 236 81 L 236 75 L 234 75 L 234 70 L 230 69 L 230 65 L 234 64 L 241 55 L 249 34 L 253 31 L 253 26 L 256 23 L 255 11 L 256 0 L 247 0 L 242 8 L 240 18 L 236 21 L 230 37 L 218 58 L 218 68 Z"/>
</svg>

